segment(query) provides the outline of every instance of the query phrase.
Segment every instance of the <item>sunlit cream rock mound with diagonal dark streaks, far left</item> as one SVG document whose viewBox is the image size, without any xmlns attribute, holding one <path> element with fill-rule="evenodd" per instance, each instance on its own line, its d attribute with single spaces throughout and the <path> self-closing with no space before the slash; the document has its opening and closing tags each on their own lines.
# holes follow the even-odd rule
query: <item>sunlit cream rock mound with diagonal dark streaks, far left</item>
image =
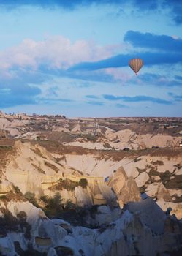
<svg viewBox="0 0 182 256">
<path fill-rule="evenodd" d="M 37 196 L 41 196 L 43 194 L 42 180 L 54 176 L 52 178 L 54 181 L 56 175 L 61 176 L 60 165 L 53 161 L 53 157 L 45 148 L 17 141 L 15 151 L 15 155 L 10 158 L 4 170 L 4 175 L 12 184 L 18 186 L 21 192 L 34 191 Z M 46 162 L 60 170 L 59 173 L 45 165 Z"/>
</svg>

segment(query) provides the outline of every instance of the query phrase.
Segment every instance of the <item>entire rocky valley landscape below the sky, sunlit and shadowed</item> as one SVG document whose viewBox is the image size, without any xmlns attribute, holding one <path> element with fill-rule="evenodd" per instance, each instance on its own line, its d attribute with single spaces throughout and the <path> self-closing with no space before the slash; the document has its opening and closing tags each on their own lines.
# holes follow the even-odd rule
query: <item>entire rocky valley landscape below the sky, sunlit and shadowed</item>
<svg viewBox="0 0 182 256">
<path fill-rule="evenodd" d="M 0 121 L 1 255 L 181 255 L 181 118 Z"/>
</svg>

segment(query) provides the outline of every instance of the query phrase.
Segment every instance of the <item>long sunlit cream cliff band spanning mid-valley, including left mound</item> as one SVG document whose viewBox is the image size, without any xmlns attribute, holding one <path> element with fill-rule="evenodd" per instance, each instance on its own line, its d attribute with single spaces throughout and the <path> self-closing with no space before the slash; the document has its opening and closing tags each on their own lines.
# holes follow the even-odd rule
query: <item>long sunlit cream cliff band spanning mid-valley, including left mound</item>
<svg viewBox="0 0 182 256">
<path fill-rule="evenodd" d="M 148 162 L 148 157 L 146 156 L 137 158 L 137 161 L 134 161 L 135 158 L 132 159 L 131 157 L 121 157 L 117 161 L 113 158 L 105 159 L 105 157 L 99 159 L 94 154 L 65 154 L 64 156 L 56 154 L 54 156 L 54 154 L 50 154 L 39 145 L 31 146 L 30 143 L 21 143 L 20 141 L 15 143 L 15 150 L 16 154 L 9 159 L 7 167 L 4 169 L 4 178 L 1 178 L 0 192 L 10 190 L 10 186 L 8 186 L 6 181 L 7 178 L 12 184 L 18 186 L 23 193 L 34 191 L 37 197 L 43 195 L 44 192 L 49 194 L 47 189 L 51 186 L 51 183 L 48 187 L 45 187 L 46 183 L 48 181 L 56 182 L 58 180 L 56 176 L 62 176 L 62 173 L 70 173 L 72 168 L 82 171 L 84 174 L 88 173 L 91 176 L 102 176 L 105 178 L 112 175 L 113 171 L 117 170 L 118 167 L 123 166 L 126 175 L 134 177 L 139 187 L 148 181 L 148 176 L 151 176 L 151 168 L 154 168 L 159 173 L 164 173 L 167 170 L 173 173 L 176 169 L 175 175 L 181 175 L 181 169 L 178 170 L 175 167 L 175 165 L 182 165 L 181 157 L 150 157 L 151 161 Z M 54 157 L 61 158 L 59 161 L 60 165 L 58 165 Z M 50 166 L 56 167 L 58 173 L 50 166 L 45 165 L 45 161 Z M 157 164 L 157 161 L 160 162 L 160 165 Z M 137 168 L 143 170 L 143 173 L 139 175 Z M 148 173 L 146 174 L 146 172 Z M 155 173 L 153 179 L 159 181 L 159 176 L 156 176 Z M 62 194 L 65 200 L 72 197 L 72 195 L 64 191 Z M 72 201 L 75 203 L 75 197 L 72 197 Z"/>
</svg>

